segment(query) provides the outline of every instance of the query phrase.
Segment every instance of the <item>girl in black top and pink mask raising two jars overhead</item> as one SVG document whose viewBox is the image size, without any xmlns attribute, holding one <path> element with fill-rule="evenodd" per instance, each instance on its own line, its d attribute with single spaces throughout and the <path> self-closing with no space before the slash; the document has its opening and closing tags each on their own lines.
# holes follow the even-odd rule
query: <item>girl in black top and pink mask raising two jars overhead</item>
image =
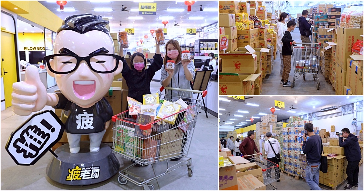
<svg viewBox="0 0 364 191">
<path fill-rule="evenodd" d="M 123 57 L 124 53 L 122 48 L 120 48 L 119 55 L 123 61 L 123 71 L 121 73 L 129 88 L 128 97 L 143 103 L 143 95 L 151 93 L 150 81 L 153 79 L 155 72 L 161 69 L 163 65 L 159 45 L 157 44 L 156 47 L 155 56 L 153 57 L 154 61 L 147 69 L 145 69 L 147 60 L 142 53 L 137 52 L 131 56 L 131 68 L 129 68 Z"/>
</svg>

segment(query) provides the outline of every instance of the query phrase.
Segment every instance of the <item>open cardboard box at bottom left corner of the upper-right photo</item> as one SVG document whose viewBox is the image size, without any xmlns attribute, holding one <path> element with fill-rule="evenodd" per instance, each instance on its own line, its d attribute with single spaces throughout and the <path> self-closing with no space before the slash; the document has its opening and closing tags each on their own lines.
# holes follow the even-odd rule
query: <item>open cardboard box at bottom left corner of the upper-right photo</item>
<svg viewBox="0 0 364 191">
<path fill-rule="evenodd" d="M 254 81 L 260 74 L 219 73 L 219 95 L 253 95 Z"/>
</svg>

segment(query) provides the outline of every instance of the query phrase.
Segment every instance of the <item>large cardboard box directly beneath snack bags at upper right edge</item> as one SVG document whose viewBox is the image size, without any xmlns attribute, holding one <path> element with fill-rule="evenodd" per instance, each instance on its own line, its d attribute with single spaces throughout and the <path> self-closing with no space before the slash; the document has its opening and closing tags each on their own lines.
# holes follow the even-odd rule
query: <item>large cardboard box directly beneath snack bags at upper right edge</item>
<svg viewBox="0 0 364 191">
<path fill-rule="evenodd" d="M 363 29 L 342 28 L 337 30 L 336 59 L 340 61 L 341 68 L 346 68 L 347 59 L 352 55 L 352 47 L 357 40 L 363 40 Z"/>
</svg>

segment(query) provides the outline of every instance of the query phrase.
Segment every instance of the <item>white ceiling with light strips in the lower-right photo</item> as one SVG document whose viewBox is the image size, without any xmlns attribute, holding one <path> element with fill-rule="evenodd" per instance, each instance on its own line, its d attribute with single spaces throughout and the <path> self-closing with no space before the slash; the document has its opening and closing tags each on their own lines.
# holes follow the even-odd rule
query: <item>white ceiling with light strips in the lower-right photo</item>
<svg viewBox="0 0 364 191">
<path fill-rule="evenodd" d="M 320 111 L 321 108 L 327 108 L 331 106 L 342 106 L 349 103 L 355 103 L 357 100 L 363 100 L 363 96 L 246 96 L 245 103 L 242 102 L 226 102 L 219 100 L 219 108 L 225 109 L 225 111 L 219 110 L 219 118 L 221 125 L 224 125 L 222 121 L 225 122 L 234 122 L 230 126 L 237 125 L 240 122 L 246 122 L 247 124 L 243 125 L 242 127 L 250 126 L 257 122 L 261 121 L 262 115 L 258 115 L 258 113 L 265 113 L 265 114 L 272 114 L 270 111 L 271 107 L 274 107 L 274 100 L 278 100 L 281 102 L 285 102 L 285 110 L 276 110 L 274 115 L 277 115 L 277 120 L 288 119 L 289 116 L 301 116 L 305 114 L 309 114 L 312 112 Z M 227 98 L 226 96 L 219 96 L 219 98 Z M 294 100 L 297 98 L 297 103 L 294 103 Z M 247 103 L 257 104 L 259 107 L 256 106 L 248 106 Z M 298 109 L 293 109 L 290 111 L 296 111 L 296 113 L 288 112 L 290 108 L 293 107 Z M 313 108 L 315 106 L 316 108 Z M 248 114 L 240 113 L 241 111 L 248 111 Z M 229 114 L 228 116 L 227 114 Z M 232 115 L 243 115 L 244 117 L 237 117 Z M 248 122 L 252 116 L 259 117 L 259 119 L 254 119 L 253 123 Z M 238 119 L 238 120 L 231 120 L 231 119 Z"/>
</svg>

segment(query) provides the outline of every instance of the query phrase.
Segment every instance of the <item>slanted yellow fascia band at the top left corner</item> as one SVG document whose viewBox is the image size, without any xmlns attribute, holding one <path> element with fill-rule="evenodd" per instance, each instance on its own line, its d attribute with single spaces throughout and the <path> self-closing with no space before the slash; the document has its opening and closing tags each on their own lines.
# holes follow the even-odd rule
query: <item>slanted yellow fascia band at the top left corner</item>
<svg viewBox="0 0 364 191">
<path fill-rule="evenodd" d="M 1 7 L 52 31 L 57 31 L 62 25 L 63 20 L 38 1 L 1 1 Z M 18 9 L 16 10 L 14 7 Z"/>
</svg>

